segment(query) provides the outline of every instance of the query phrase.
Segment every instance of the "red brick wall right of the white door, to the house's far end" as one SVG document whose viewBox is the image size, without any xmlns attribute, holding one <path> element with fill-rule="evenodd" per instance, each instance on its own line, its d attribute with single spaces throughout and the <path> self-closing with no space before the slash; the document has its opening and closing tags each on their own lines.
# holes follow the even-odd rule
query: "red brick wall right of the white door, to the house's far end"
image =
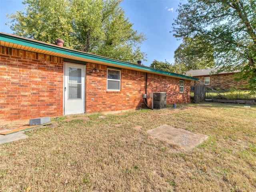
<svg viewBox="0 0 256 192">
<path fill-rule="evenodd" d="M 92 72 L 97 68 L 99 72 Z M 121 69 L 121 91 L 107 91 L 107 66 L 86 65 L 86 113 L 137 109 L 144 106 L 146 73 Z M 166 103 L 190 102 L 190 81 L 184 81 L 184 93 L 179 92 L 179 79 L 148 74 L 147 100 L 150 92 L 166 92 Z M 93 101 L 92 101 L 93 99 Z"/>
</svg>

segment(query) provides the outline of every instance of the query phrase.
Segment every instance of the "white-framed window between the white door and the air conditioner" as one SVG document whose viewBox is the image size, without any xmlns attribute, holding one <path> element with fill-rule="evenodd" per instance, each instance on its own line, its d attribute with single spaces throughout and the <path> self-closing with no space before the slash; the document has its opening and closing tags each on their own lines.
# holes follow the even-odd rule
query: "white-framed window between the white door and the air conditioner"
<svg viewBox="0 0 256 192">
<path fill-rule="evenodd" d="M 121 71 L 116 69 L 107 70 L 107 91 L 120 91 Z"/>
</svg>

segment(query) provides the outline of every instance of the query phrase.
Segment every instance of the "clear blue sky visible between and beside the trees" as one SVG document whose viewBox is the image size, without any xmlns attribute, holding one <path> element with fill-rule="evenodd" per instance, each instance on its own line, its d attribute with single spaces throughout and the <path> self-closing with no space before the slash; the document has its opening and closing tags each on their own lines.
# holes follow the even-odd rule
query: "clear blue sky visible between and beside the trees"
<svg viewBox="0 0 256 192">
<path fill-rule="evenodd" d="M 23 0 L 0 0 L 0 31 L 12 34 L 6 14 L 23 10 Z M 126 17 L 133 23 L 133 29 L 146 35 L 141 45 L 141 51 L 147 54 L 147 60 L 142 64 L 149 66 L 154 60 L 174 62 L 174 51 L 181 40 L 177 40 L 169 32 L 172 22 L 177 17 L 176 9 L 181 0 L 124 0 L 120 6 Z M 138 58 L 140 59 L 140 58 Z"/>
</svg>

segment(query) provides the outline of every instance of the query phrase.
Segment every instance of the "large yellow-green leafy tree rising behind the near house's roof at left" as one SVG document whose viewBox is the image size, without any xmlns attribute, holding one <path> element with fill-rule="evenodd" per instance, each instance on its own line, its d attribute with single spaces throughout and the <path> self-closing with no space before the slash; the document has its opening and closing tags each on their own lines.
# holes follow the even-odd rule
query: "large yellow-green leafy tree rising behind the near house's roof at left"
<svg viewBox="0 0 256 192">
<path fill-rule="evenodd" d="M 24 0 L 25 12 L 8 15 L 15 35 L 136 63 L 146 60 L 143 33 L 132 29 L 122 0 Z"/>
</svg>

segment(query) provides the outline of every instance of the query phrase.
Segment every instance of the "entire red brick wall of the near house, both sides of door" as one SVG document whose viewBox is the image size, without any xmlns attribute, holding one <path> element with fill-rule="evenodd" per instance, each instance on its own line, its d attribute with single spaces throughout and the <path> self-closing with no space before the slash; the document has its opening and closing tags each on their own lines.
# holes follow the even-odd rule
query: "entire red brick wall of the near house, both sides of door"
<svg viewBox="0 0 256 192">
<path fill-rule="evenodd" d="M 97 68 L 99 72 L 93 72 Z M 121 90 L 107 91 L 108 66 L 86 64 L 86 113 L 137 109 L 144 106 L 146 73 L 121 70 Z M 62 58 L 14 48 L 0 47 L 0 123 L 43 116 L 63 115 Z M 166 92 L 166 103 L 190 102 L 190 81 L 148 74 L 150 92 Z"/>
</svg>

